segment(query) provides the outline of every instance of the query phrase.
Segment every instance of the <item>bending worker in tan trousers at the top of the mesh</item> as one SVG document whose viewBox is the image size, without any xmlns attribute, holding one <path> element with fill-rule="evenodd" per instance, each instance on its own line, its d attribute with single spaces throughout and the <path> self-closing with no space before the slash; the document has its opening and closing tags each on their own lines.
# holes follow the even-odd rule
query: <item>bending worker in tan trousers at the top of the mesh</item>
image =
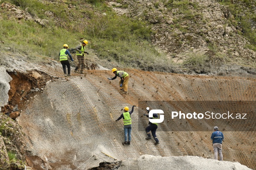
<svg viewBox="0 0 256 170">
<path fill-rule="evenodd" d="M 129 75 L 125 71 L 117 71 L 116 68 L 112 69 L 113 74 L 115 74 L 115 77 L 113 78 L 108 78 L 109 80 L 116 79 L 116 77 L 120 77 L 119 81 L 119 86 L 121 93 L 123 94 L 128 94 L 128 80 L 129 80 Z"/>
</svg>

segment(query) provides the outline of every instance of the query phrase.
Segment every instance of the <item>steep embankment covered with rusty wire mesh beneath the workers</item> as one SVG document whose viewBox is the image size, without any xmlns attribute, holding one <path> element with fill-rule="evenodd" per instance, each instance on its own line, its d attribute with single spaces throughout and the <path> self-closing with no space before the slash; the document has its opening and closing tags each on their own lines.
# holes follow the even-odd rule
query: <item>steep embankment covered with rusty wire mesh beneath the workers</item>
<svg viewBox="0 0 256 170">
<path fill-rule="evenodd" d="M 40 69 L 62 75 L 61 66 L 54 62 Z M 256 96 L 255 79 L 125 71 L 131 76 L 128 95 L 119 94 L 117 79 L 106 79 L 113 76 L 111 71 L 87 71 L 47 82 L 44 91 L 33 96 L 17 118 L 26 134 L 29 166 L 45 170 L 81 165 L 87 169 L 112 160 L 101 152 L 124 161 L 144 154 L 213 158 L 211 132 L 159 131 L 161 143 L 155 146 L 153 141 L 145 141 L 144 131 L 139 131 L 141 118 L 135 108 L 132 142 L 123 146 L 123 125 L 115 119 L 124 106 L 131 108 L 139 100 L 255 100 Z M 225 138 L 224 160 L 256 167 L 255 132 L 225 132 Z"/>
</svg>

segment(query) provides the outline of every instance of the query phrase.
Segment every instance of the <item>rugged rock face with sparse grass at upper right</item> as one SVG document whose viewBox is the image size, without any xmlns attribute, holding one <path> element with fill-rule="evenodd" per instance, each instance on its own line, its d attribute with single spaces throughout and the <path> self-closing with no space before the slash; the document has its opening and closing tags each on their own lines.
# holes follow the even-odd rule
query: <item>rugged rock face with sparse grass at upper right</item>
<svg viewBox="0 0 256 170">
<path fill-rule="evenodd" d="M 169 0 L 151 1 L 124 0 L 119 6 L 128 8 L 113 8 L 117 14 L 126 14 L 128 17 L 138 18 L 153 24 L 151 29 L 155 32 L 152 42 L 162 51 L 167 53 L 167 58 L 177 64 L 182 64 L 192 51 L 205 51 L 204 56 L 209 56 L 208 65 L 198 68 L 184 68 L 183 72 L 190 70 L 197 74 L 216 70 L 216 58 L 225 57 L 232 60 L 242 59 L 245 65 L 250 65 L 256 58 L 256 52 L 245 48 L 250 42 L 243 37 L 241 23 L 231 23 L 234 16 L 228 7 L 221 5 L 217 0 Z M 234 3 L 239 3 L 235 2 Z M 112 3 L 109 3 L 111 6 Z M 251 6 L 255 6 L 253 2 Z M 255 8 L 255 7 L 254 7 Z M 255 24 L 252 22 L 252 30 Z M 239 34 L 240 32 L 240 34 Z M 207 67 L 207 69 L 202 69 Z M 224 66 L 225 67 L 225 66 Z"/>
</svg>

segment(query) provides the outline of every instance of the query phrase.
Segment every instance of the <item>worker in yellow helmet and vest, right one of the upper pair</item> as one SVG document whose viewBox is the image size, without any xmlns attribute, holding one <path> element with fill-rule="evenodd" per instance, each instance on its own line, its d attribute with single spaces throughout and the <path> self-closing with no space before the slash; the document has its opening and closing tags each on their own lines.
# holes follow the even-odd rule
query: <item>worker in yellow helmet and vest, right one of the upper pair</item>
<svg viewBox="0 0 256 170">
<path fill-rule="evenodd" d="M 78 45 L 76 48 L 74 48 L 76 50 L 76 57 L 78 59 L 78 65 L 75 68 L 75 73 L 78 73 L 78 69 L 81 66 L 81 70 L 80 70 L 80 74 L 84 74 L 84 68 L 85 68 L 85 64 L 84 64 L 84 53 L 88 54 L 88 52 L 84 51 L 85 50 L 85 46 L 88 44 L 87 40 L 84 40 L 82 42 L 82 44 Z"/>
</svg>

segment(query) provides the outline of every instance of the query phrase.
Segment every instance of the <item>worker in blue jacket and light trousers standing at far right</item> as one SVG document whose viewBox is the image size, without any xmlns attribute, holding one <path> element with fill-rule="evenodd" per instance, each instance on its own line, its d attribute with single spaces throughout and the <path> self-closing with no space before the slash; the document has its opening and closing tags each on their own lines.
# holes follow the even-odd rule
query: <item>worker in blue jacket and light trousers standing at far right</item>
<svg viewBox="0 0 256 170">
<path fill-rule="evenodd" d="M 223 133 L 218 130 L 218 126 L 214 127 L 214 132 L 211 136 L 213 152 L 214 152 L 214 159 L 218 160 L 218 154 L 220 157 L 220 161 L 223 161 L 222 156 L 222 141 L 224 140 Z"/>
</svg>

